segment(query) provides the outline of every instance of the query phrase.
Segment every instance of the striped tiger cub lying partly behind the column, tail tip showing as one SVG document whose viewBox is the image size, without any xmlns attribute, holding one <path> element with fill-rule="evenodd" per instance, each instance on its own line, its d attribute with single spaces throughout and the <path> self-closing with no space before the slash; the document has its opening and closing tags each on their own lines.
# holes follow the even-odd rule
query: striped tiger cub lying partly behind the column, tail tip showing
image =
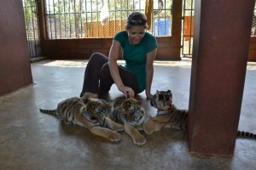
<svg viewBox="0 0 256 170">
<path fill-rule="evenodd" d="M 150 99 L 150 105 L 157 109 L 154 117 L 154 131 L 164 127 L 177 127 L 186 130 L 188 125 L 188 110 L 179 110 L 172 105 L 172 91 L 156 91 L 154 98 Z M 238 130 L 238 138 L 256 139 L 256 134 Z"/>
</svg>

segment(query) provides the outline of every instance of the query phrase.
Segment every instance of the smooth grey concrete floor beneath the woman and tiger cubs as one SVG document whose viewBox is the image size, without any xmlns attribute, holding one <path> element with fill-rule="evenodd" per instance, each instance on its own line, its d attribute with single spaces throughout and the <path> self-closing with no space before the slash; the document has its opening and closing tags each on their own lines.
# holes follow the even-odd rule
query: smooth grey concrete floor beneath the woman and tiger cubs
<svg viewBox="0 0 256 170">
<path fill-rule="evenodd" d="M 122 62 L 121 62 L 122 63 Z M 122 133 L 111 143 L 86 128 L 65 125 L 39 107 L 54 109 L 79 96 L 85 60 L 43 60 L 32 64 L 34 84 L 0 98 L 0 169 L 256 169 L 256 141 L 237 139 L 232 157 L 195 156 L 185 135 L 174 129 L 145 134 L 138 146 Z M 172 89 L 178 108 L 189 106 L 190 59 L 155 61 L 153 91 Z M 239 128 L 256 133 L 256 63 L 248 63 Z M 115 86 L 109 98 L 120 95 Z M 146 111 L 155 114 L 140 94 Z"/>
</svg>

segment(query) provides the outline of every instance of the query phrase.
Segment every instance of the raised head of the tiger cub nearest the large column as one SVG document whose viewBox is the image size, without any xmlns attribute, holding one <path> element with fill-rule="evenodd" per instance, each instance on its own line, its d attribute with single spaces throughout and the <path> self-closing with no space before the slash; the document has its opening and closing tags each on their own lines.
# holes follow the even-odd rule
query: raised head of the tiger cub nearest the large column
<svg viewBox="0 0 256 170">
<path fill-rule="evenodd" d="M 150 105 L 158 111 L 166 111 L 172 106 L 172 91 L 156 91 L 154 97 L 150 99 Z"/>
</svg>

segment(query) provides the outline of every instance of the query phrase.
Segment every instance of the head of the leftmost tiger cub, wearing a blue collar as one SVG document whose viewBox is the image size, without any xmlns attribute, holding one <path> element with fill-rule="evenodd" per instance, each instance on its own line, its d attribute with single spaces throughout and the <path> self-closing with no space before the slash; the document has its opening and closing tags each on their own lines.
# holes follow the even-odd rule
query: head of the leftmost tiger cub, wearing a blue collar
<svg viewBox="0 0 256 170">
<path fill-rule="evenodd" d="M 113 112 L 113 105 L 104 99 L 90 99 L 86 111 L 92 119 L 102 120 Z"/>
</svg>

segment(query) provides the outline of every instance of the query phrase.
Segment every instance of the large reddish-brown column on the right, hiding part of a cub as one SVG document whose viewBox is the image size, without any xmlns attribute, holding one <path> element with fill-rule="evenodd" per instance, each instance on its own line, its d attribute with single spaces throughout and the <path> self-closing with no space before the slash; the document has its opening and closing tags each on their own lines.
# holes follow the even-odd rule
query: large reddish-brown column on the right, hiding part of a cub
<svg viewBox="0 0 256 170">
<path fill-rule="evenodd" d="M 254 0 L 195 1 L 189 150 L 233 156 Z"/>
</svg>

